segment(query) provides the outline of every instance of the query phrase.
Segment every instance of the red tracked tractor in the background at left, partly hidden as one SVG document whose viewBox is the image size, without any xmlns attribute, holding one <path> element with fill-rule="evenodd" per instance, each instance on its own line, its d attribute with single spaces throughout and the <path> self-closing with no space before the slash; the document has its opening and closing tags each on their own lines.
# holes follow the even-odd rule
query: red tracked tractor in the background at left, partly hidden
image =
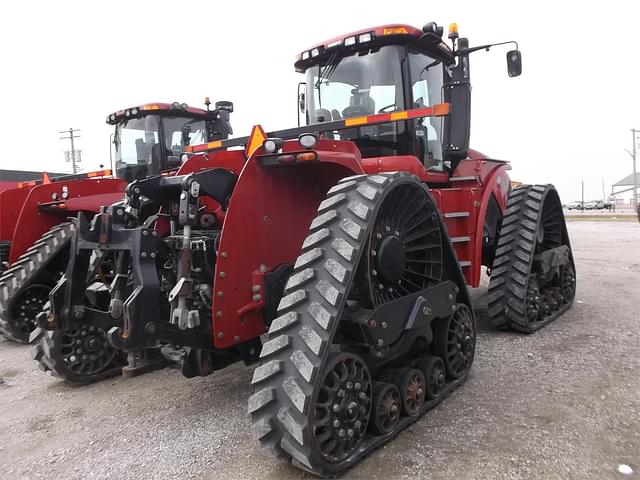
<svg viewBox="0 0 640 480">
<path fill-rule="evenodd" d="M 66 268 L 74 229 L 69 217 L 97 213 L 102 205 L 121 201 L 127 183 L 136 178 L 175 171 L 189 142 L 227 138 L 232 105 L 222 102 L 213 111 L 208 106 L 208 101 L 207 110 L 153 103 L 115 112 L 107 117 L 115 126 L 115 177 L 109 170 L 45 176 L 0 194 L 0 271 L 5 270 L 0 276 L 0 332 L 28 342 L 36 314 Z M 104 358 L 111 353 L 104 352 Z"/>
</svg>

